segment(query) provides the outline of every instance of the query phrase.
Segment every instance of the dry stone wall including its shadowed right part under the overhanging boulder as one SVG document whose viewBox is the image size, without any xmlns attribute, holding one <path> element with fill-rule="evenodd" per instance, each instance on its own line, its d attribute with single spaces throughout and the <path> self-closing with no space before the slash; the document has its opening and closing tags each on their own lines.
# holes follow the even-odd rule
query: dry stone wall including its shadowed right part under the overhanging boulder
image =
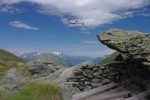
<svg viewBox="0 0 150 100">
<path fill-rule="evenodd" d="M 107 65 L 77 67 L 74 76 L 67 82 L 80 91 L 93 89 L 109 82 L 117 82 L 123 87 L 135 84 L 147 90 L 150 85 L 150 72 L 142 63 L 114 61 Z"/>
</svg>

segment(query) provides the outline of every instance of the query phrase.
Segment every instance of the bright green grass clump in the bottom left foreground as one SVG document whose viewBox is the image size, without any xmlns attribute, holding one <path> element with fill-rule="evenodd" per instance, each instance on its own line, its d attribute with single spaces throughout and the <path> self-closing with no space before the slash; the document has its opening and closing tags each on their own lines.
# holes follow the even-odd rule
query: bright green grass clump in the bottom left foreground
<svg viewBox="0 0 150 100">
<path fill-rule="evenodd" d="M 61 100 L 60 87 L 52 83 L 32 82 L 14 93 L 3 93 L 0 100 Z"/>
</svg>

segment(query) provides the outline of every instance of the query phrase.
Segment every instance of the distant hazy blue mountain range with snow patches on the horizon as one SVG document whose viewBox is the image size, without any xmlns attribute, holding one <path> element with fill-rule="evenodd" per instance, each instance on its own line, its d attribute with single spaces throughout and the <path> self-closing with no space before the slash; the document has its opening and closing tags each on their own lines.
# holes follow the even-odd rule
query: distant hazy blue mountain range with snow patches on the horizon
<svg viewBox="0 0 150 100">
<path fill-rule="evenodd" d="M 17 54 L 25 62 L 39 61 L 39 62 L 54 62 L 64 66 L 74 66 L 86 61 L 91 61 L 93 63 L 98 63 L 102 57 L 92 58 L 85 56 L 68 56 L 61 52 L 50 52 L 50 53 L 19 53 Z"/>
</svg>

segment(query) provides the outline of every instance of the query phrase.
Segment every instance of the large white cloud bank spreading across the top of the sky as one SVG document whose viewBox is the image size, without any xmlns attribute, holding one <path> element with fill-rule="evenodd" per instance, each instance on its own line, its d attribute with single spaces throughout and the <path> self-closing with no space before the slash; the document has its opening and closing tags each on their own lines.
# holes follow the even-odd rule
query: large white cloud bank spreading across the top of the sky
<svg viewBox="0 0 150 100">
<path fill-rule="evenodd" d="M 150 4 L 150 0 L 2 0 L 0 3 L 13 4 L 22 1 L 40 5 L 42 13 L 56 14 L 61 17 L 74 16 L 79 21 L 84 21 L 87 26 L 93 27 L 112 23 L 127 17 L 128 14 L 131 16 L 129 10 Z"/>
</svg>

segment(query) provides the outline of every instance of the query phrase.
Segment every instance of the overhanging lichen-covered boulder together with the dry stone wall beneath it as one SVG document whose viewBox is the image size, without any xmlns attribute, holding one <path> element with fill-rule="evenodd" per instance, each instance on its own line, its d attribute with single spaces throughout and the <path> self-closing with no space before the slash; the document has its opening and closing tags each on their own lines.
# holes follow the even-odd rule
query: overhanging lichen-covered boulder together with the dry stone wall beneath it
<svg viewBox="0 0 150 100">
<path fill-rule="evenodd" d="M 113 60 L 109 59 L 109 63 L 85 64 L 75 68 L 73 76 L 68 78 L 71 86 L 86 91 L 113 81 L 132 93 L 150 89 L 149 34 L 109 30 L 101 33 L 98 39 L 119 53 Z"/>
</svg>

